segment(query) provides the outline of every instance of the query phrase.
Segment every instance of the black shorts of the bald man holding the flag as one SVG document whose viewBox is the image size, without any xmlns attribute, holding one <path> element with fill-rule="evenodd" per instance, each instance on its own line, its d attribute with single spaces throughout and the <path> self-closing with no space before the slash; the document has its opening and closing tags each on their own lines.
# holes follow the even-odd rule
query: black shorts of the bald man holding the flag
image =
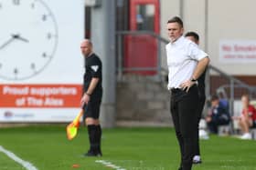
<svg viewBox="0 0 256 170">
<path fill-rule="evenodd" d="M 99 119 L 101 108 L 101 100 L 89 101 L 88 105 L 83 106 L 83 119 L 91 117 L 93 119 Z"/>
</svg>

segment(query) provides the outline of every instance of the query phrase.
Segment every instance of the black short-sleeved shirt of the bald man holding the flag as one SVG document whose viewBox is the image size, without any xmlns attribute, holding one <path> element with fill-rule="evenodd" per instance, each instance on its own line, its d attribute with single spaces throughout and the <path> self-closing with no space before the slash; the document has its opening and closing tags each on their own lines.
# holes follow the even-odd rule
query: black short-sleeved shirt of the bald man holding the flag
<svg viewBox="0 0 256 170">
<path fill-rule="evenodd" d="M 91 100 L 101 100 L 102 96 L 102 64 L 99 56 L 91 54 L 85 58 L 85 73 L 83 75 L 83 91 L 86 92 L 91 79 L 99 78 L 99 82 L 91 94 Z"/>
</svg>

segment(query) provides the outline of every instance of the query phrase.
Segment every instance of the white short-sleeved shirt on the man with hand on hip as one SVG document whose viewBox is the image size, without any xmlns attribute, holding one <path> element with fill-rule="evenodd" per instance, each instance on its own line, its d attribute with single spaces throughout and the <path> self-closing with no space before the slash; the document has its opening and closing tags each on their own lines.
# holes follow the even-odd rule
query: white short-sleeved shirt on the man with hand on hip
<svg viewBox="0 0 256 170">
<path fill-rule="evenodd" d="M 180 36 L 174 43 L 165 46 L 168 66 L 168 89 L 180 88 L 180 85 L 191 79 L 197 62 L 207 57 L 198 45 Z"/>
</svg>

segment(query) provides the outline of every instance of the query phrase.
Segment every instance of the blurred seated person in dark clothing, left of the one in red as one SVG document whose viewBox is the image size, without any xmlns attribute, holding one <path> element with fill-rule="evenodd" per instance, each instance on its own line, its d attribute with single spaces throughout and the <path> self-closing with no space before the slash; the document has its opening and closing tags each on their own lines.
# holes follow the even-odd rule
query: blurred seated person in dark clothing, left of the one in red
<svg viewBox="0 0 256 170">
<path fill-rule="evenodd" d="M 229 125 L 230 115 L 227 107 L 219 104 L 219 97 L 213 95 L 211 97 L 211 108 L 206 117 L 210 133 L 218 134 L 219 125 Z"/>
</svg>

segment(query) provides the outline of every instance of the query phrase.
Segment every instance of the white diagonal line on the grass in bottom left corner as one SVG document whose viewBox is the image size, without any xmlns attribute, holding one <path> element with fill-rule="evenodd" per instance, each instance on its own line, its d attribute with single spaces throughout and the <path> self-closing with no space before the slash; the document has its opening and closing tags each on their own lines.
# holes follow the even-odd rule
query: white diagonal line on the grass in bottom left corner
<svg viewBox="0 0 256 170">
<path fill-rule="evenodd" d="M 21 158 L 16 156 L 14 153 L 6 150 L 2 145 L 0 145 L 0 152 L 5 153 L 5 155 L 7 155 L 8 157 L 16 161 L 18 164 L 23 165 L 23 167 L 25 167 L 27 170 L 37 170 L 37 167 L 35 167 L 34 165 L 32 165 L 27 161 L 22 160 Z"/>
</svg>

